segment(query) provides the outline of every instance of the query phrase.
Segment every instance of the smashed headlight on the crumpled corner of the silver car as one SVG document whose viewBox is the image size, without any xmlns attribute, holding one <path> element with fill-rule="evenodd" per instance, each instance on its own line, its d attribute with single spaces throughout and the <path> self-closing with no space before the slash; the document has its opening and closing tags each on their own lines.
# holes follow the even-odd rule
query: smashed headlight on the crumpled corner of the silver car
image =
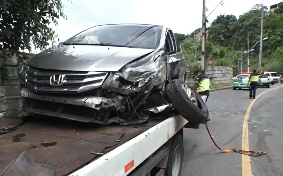
<svg viewBox="0 0 283 176">
<path fill-rule="evenodd" d="M 141 87 L 146 85 L 153 78 L 153 76 L 151 76 L 139 82 L 130 82 L 120 77 L 121 74 L 122 73 L 119 72 L 111 73 L 103 83 L 102 88 L 127 95 L 138 92 Z"/>
</svg>

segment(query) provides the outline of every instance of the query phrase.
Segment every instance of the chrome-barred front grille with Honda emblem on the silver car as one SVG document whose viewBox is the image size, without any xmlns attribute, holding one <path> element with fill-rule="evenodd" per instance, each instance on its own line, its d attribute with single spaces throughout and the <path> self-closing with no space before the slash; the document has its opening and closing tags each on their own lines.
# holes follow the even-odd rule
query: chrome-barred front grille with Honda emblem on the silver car
<svg viewBox="0 0 283 176">
<path fill-rule="evenodd" d="M 60 85 L 52 84 L 53 75 L 56 80 L 61 77 Z M 100 87 L 106 79 L 105 72 L 58 71 L 30 68 L 26 71 L 26 87 L 32 91 L 43 93 L 79 93 Z"/>
</svg>

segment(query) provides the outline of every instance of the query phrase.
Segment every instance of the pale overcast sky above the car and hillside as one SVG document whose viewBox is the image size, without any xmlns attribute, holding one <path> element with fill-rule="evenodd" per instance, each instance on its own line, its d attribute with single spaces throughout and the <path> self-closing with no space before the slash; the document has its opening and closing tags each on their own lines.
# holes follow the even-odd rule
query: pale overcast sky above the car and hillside
<svg viewBox="0 0 283 176">
<path fill-rule="evenodd" d="M 202 1 L 197 0 L 62 0 L 68 20 L 59 19 L 54 28 L 60 41 L 89 27 L 100 24 L 142 23 L 158 24 L 171 28 L 175 33 L 190 34 L 202 24 Z M 209 15 L 221 0 L 206 1 Z M 167 2 L 167 3 L 166 3 Z M 172 3 L 173 2 L 173 3 Z M 253 5 L 267 7 L 280 0 L 223 0 L 208 17 L 212 22 L 219 14 L 233 14 L 237 18 Z"/>
</svg>

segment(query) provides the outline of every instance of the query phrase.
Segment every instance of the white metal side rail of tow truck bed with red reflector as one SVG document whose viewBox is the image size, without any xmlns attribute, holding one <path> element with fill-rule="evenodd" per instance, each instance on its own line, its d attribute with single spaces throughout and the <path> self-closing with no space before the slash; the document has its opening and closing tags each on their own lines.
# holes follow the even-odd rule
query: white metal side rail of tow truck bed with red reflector
<svg viewBox="0 0 283 176">
<path fill-rule="evenodd" d="M 126 176 L 188 121 L 172 116 L 68 176 Z"/>
</svg>

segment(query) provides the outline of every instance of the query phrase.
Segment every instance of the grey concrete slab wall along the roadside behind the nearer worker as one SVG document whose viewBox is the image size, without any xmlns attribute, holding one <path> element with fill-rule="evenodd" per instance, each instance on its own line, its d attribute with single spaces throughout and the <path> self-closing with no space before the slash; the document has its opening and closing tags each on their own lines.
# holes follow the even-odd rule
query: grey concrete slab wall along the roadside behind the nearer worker
<svg viewBox="0 0 283 176">
<path fill-rule="evenodd" d="M 193 80 L 193 67 L 187 67 L 187 76 L 186 82 L 190 85 L 194 85 L 195 81 Z M 232 87 L 232 77 L 233 69 L 228 66 L 207 66 L 206 75 L 210 79 L 210 89 L 217 89 L 221 87 Z"/>
</svg>

